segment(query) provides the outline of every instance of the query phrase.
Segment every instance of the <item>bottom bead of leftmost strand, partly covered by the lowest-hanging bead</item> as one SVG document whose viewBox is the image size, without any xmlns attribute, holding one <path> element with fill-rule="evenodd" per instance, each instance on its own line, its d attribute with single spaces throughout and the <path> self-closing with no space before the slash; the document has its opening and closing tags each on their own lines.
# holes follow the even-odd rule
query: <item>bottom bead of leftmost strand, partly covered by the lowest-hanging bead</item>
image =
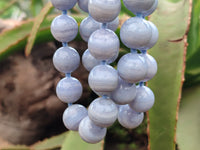
<svg viewBox="0 0 200 150">
<path fill-rule="evenodd" d="M 69 106 L 63 113 L 63 122 L 66 128 L 78 131 L 79 124 L 88 115 L 87 109 L 82 105 Z"/>
</svg>

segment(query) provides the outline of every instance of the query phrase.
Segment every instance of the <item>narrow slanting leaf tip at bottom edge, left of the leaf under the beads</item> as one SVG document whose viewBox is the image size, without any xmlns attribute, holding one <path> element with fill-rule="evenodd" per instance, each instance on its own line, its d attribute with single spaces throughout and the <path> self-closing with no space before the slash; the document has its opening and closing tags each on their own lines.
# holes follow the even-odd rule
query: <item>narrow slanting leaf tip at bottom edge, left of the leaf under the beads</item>
<svg viewBox="0 0 200 150">
<path fill-rule="evenodd" d="M 31 148 L 34 150 L 51 150 L 51 149 L 61 148 L 62 143 L 64 142 L 66 136 L 67 133 L 54 136 L 50 139 L 46 139 L 42 142 L 34 144 L 33 146 L 31 146 Z"/>
</svg>

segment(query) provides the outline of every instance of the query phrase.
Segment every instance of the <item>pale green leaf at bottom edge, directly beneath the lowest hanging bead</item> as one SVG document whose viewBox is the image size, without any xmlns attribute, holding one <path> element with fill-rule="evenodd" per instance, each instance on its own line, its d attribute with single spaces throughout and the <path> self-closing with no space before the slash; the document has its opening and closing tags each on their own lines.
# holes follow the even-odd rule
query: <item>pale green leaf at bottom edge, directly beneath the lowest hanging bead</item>
<svg viewBox="0 0 200 150">
<path fill-rule="evenodd" d="M 102 150 L 103 142 L 88 144 L 84 142 L 77 132 L 69 131 L 61 150 Z"/>
</svg>

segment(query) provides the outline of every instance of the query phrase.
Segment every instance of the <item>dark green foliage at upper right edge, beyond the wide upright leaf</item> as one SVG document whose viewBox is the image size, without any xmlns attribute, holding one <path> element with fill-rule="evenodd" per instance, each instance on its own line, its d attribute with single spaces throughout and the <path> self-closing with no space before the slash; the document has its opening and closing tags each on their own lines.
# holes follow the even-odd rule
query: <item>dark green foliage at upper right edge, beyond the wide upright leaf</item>
<svg viewBox="0 0 200 150">
<path fill-rule="evenodd" d="M 200 74 L 200 1 L 193 0 L 191 27 L 188 34 L 188 50 L 186 64 L 186 83 L 185 86 L 199 83 L 197 75 Z"/>
</svg>

